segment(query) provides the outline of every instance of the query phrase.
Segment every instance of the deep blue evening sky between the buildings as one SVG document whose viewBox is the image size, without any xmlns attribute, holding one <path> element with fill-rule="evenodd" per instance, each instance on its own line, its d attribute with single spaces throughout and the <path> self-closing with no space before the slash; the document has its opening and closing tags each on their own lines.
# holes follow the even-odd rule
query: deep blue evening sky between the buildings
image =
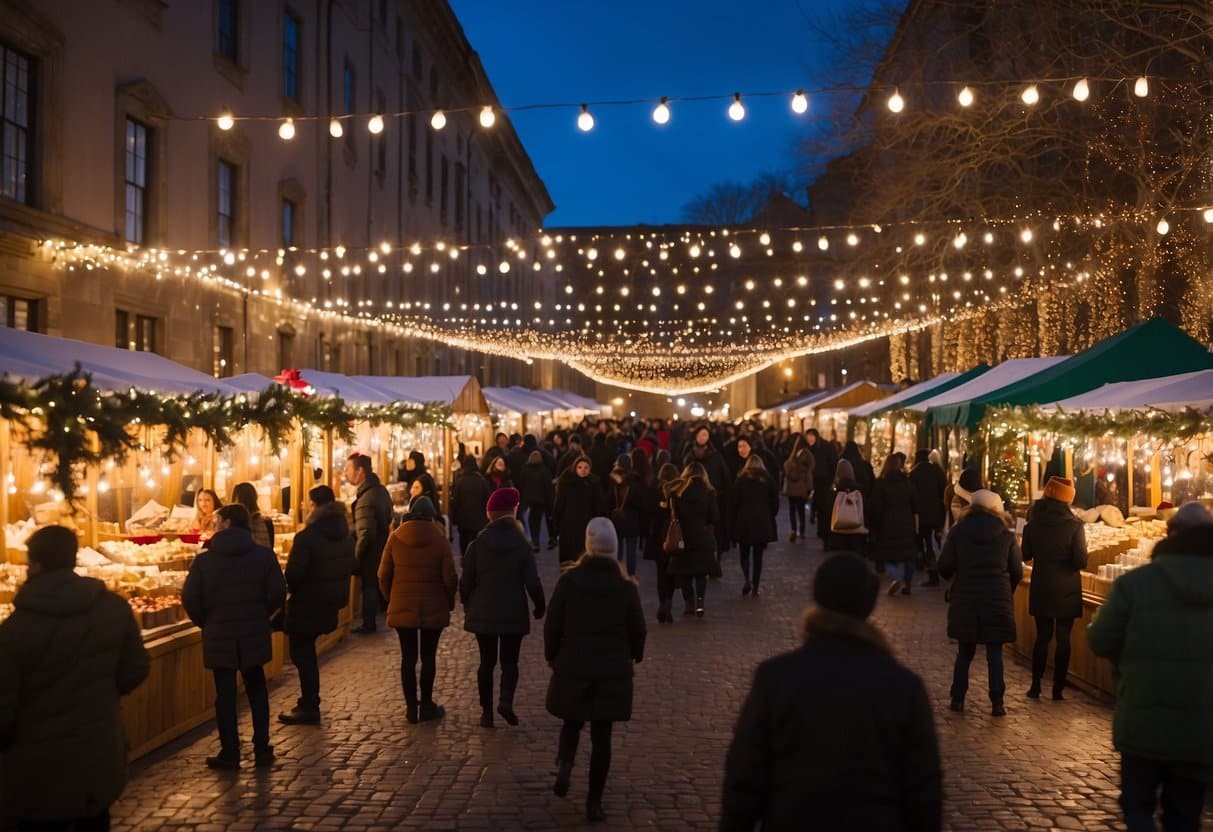
<svg viewBox="0 0 1213 832">
<path fill-rule="evenodd" d="M 577 104 L 609 98 L 730 95 L 813 87 L 825 70 L 813 24 L 837 22 L 847 0 L 450 0 L 505 107 L 571 103 L 513 113 L 556 203 L 548 226 L 678 222 L 682 206 L 714 183 L 750 182 L 796 165 L 808 129 L 788 99 L 671 106 L 659 127 L 651 104 L 600 108 L 590 133 Z"/>
</svg>

